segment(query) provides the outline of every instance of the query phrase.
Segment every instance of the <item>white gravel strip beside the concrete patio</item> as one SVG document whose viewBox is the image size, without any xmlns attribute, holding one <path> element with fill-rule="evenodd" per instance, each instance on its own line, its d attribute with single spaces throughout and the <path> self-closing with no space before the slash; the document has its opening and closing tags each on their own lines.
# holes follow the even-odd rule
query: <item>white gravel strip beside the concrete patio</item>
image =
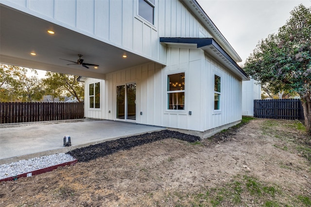
<svg viewBox="0 0 311 207">
<path fill-rule="evenodd" d="M 24 173 L 30 173 L 42 168 L 51 167 L 75 160 L 71 155 L 59 153 L 33 159 L 22 159 L 18 162 L 0 165 L 0 179 Z"/>
</svg>

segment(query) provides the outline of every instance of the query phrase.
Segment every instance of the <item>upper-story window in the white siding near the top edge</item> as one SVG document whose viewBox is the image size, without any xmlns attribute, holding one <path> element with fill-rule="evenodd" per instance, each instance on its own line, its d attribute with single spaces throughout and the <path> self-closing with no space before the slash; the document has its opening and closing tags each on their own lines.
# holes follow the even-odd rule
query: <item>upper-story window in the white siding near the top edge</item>
<svg viewBox="0 0 311 207">
<path fill-rule="evenodd" d="M 154 24 L 155 0 L 138 0 L 138 15 Z"/>
</svg>

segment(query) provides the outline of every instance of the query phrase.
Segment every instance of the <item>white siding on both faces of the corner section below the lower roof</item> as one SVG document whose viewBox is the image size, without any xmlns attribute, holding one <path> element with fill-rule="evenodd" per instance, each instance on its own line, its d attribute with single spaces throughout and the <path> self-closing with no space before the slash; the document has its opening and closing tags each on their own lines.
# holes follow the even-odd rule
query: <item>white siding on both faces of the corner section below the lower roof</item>
<svg viewBox="0 0 311 207">
<path fill-rule="evenodd" d="M 163 85 L 167 75 L 185 72 L 185 110 L 165 109 L 163 127 L 203 132 L 241 120 L 242 81 L 239 78 L 201 49 L 168 48 L 167 56 Z M 214 75 L 221 77 L 220 111 L 214 110 Z M 163 94 L 166 95 L 166 88 Z M 167 100 L 163 105 L 167 105 Z"/>
</svg>

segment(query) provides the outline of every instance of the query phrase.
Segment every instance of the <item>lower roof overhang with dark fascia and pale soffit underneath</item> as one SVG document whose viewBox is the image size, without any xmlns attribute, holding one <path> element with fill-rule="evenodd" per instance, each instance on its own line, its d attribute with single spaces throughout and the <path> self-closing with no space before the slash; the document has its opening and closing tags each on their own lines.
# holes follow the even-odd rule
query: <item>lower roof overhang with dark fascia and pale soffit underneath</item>
<svg viewBox="0 0 311 207">
<path fill-rule="evenodd" d="M 182 38 L 182 37 L 160 37 L 160 43 L 167 45 L 194 45 L 206 51 L 213 58 L 224 64 L 242 80 L 250 80 L 242 68 L 228 55 L 228 53 L 213 38 Z"/>
</svg>

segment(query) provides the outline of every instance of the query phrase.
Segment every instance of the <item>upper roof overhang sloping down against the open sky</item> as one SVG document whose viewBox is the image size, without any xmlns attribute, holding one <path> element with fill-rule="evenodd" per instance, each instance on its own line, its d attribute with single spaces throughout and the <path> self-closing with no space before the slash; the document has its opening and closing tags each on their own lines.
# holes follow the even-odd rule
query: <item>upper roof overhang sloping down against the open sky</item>
<svg viewBox="0 0 311 207">
<path fill-rule="evenodd" d="M 200 4 L 196 0 L 180 0 L 190 9 L 191 12 L 204 24 L 212 36 L 217 40 L 218 43 L 227 49 L 234 57 L 236 62 L 242 62 L 241 57 L 238 53 L 232 48 L 229 42 L 225 39 L 225 36 L 218 30 L 213 21 L 207 16 L 205 11 L 202 9 Z"/>
</svg>

